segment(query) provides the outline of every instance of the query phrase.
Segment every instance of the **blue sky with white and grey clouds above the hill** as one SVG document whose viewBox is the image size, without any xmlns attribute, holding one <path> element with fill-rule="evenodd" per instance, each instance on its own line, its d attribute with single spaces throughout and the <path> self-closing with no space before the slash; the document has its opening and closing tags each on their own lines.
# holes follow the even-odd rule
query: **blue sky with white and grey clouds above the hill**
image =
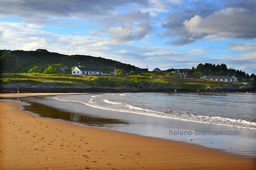
<svg viewBox="0 0 256 170">
<path fill-rule="evenodd" d="M 0 0 L 0 49 L 256 74 L 256 0 Z M 77 61 L 78 63 L 79 61 Z"/>
</svg>

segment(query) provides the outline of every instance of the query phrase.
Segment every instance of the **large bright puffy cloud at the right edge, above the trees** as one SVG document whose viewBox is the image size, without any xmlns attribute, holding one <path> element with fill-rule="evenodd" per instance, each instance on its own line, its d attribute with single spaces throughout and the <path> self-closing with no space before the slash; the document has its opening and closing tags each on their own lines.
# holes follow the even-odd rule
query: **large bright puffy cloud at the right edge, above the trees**
<svg viewBox="0 0 256 170">
<path fill-rule="evenodd" d="M 196 15 L 185 20 L 185 29 L 193 36 L 215 34 L 217 37 L 256 38 L 255 13 L 245 9 L 228 8 L 207 17 Z"/>
</svg>

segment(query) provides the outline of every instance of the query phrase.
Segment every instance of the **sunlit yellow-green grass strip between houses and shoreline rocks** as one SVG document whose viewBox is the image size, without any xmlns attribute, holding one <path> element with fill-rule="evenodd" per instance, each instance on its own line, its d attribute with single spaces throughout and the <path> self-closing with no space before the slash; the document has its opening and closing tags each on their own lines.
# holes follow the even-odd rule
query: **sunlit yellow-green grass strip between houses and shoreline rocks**
<svg viewBox="0 0 256 170">
<path fill-rule="evenodd" d="M 155 74 L 145 75 L 71 75 L 71 74 L 33 74 L 33 73 L 5 73 L 0 74 L 0 84 L 29 83 L 32 85 L 43 84 L 48 86 L 80 86 L 80 87 L 137 87 L 139 84 L 174 85 L 188 89 L 201 89 L 208 86 L 228 86 L 223 81 L 183 79 L 177 76 L 164 76 Z"/>
</svg>

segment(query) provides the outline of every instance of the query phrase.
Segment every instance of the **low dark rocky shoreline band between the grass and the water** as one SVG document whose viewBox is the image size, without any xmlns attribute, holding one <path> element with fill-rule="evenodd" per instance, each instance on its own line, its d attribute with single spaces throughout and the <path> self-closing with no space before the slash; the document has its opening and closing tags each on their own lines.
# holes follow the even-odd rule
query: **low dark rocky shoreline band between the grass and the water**
<svg viewBox="0 0 256 170">
<path fill-rule="evenodd" d="M 8 85 L 1 85 L 1 93 L 13 93 L 17 92 L 19 87 L 20 92 L 24 93 L 125 93 L 125 92 L 212 92 L 212 93 L 224 93 L 224 92 L 256 92 L 254 86 L 243 86 L 240 88 L 234 87 L 207 87 L 202 89 L 185 89 L 173 85 L 160 85 L 157 86 L 144 86 L 138 85 L 138 88 L 131 88 L 126 86 L 121 87 L 79 87 L 79 86 L 46 86 L 42 84 L 31 85 L 28 83 L 14 83 Z"/>
</svg>

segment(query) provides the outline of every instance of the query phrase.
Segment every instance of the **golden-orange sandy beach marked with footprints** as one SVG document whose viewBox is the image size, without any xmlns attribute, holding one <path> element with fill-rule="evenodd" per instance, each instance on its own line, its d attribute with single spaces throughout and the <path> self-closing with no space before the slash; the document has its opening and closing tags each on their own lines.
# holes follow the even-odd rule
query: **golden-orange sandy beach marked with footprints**
<svg viewBox="0 0 256 170">
<path fill-rule="evenodd" d="M 57 94 L 0 97 L 37 95 Z M 22 104 L 0 101 L 0 169 L 256 169 L 255 158 L 37 117 Z"/>
</svg>

